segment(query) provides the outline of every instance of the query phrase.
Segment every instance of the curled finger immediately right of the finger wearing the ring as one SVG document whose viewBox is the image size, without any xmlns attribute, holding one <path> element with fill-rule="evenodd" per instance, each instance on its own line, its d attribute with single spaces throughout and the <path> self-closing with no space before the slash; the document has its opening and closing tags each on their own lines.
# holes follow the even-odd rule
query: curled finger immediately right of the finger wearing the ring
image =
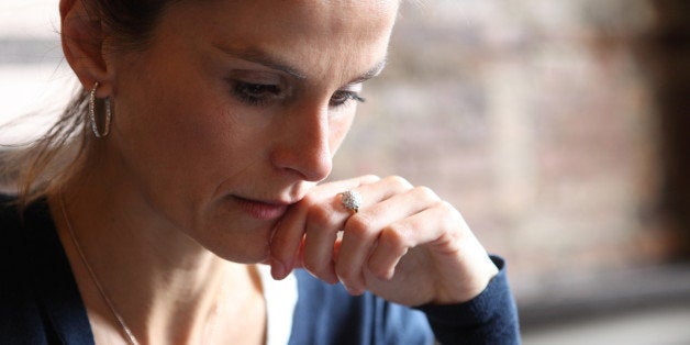
<svg viewBox="0 0 690 345">
<path fill-rule="evenodd" d="M 412 188 L 366 208 L 345 224 L 336 274 L 350 292 L 364 291 L 364 266 L 381 231 L 438 201 L 427 188 Z"/>
</svg>

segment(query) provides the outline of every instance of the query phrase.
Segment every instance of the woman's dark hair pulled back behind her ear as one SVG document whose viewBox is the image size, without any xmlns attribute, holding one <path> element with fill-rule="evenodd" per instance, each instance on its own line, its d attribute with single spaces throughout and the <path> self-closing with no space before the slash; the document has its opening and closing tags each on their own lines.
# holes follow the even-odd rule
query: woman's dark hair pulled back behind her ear
<svg viewBox="0 0 690 345">
<path fill-rule="evenodd" d="M 181 0 L 77 0 L 88 18 L 100 24 L 101 36 L 92 37 L 110 49 L 141 51 L 153 38 L 164 11 Z M 74 40 L 62 33 L 63 40 Z M 89 90 L 79 88 L 67 108 L 40 138 L 7 149 L 0 156 L 0 185 L 8 185 L 25 207 L 55 192 L 97 159 L 99 141 L 88 126 Z"/>
</svg>

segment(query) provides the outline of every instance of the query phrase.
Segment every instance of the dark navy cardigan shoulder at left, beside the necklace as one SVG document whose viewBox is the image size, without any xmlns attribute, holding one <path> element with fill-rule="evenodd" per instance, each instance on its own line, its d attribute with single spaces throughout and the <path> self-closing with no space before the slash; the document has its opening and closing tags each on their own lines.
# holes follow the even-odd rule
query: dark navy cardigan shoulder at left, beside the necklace
<svg viewBox="0 0 690 345">
<path fill-rule="evenodd" d="M 20 211 L 0 196 L 0 275 L 1 344 L 92 343 L 45 199 Z"/>
</svg>

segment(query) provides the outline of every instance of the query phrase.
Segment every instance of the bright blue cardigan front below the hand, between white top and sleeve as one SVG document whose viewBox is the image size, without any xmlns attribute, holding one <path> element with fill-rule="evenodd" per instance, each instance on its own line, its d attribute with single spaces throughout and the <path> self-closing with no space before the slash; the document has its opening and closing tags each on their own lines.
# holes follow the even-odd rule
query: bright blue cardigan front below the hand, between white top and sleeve
<svg viewBox="0 0 690 345">
<path fill-rule="evenodd" d="M 424 314 L 371 293 L 352 297 L 303 269 L 294 271 L 298 303 L 291 344 L 431 344 Z"/>
</svg>

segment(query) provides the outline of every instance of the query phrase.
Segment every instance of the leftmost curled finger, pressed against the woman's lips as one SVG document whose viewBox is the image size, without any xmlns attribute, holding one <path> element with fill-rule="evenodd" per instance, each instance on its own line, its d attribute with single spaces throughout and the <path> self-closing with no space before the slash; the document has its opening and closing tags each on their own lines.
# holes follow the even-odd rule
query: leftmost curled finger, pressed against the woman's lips
<svg viewBox="0 0 690 345">
<path fill-rule="evenodd" d="M 314 187 L 300 202 L 293 204 L 276 225 L 270 241 L 270 266 L 274 279 L 287 277 L 296 265 L 296 258 L 302 244 L 309 209 L 334 194 L 371 183 L 379 178 L 363 176 L 348 180 L 329 182 Z"/>
</svg>

